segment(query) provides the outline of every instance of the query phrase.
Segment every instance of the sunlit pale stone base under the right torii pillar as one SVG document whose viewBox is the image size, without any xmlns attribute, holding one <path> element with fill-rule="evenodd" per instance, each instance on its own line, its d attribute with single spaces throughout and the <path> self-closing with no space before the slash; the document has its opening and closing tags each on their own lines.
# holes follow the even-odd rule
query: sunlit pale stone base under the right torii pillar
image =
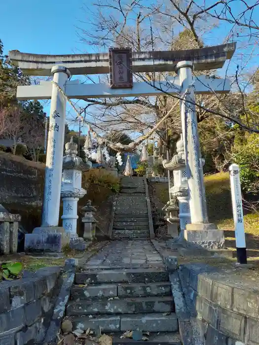
<svg viewBox="0 0 259 345">
<path fill-rule="evenodd" d="M 212 223 L 193 223 L 187 224 L 184 230 L 184 238 L 206 249 L 225 248 L 224 231 L 218 230 Z"/>
</svg>

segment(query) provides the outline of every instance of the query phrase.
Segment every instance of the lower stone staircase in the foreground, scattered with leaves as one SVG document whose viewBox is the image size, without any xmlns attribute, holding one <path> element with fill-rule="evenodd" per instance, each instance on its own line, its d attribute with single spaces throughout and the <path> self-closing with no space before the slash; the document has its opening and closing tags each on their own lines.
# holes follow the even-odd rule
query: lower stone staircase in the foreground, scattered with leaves
<svg viewBox="0 0 259 345">
<path fill-rule="evenodd" d="M 111 332 L 113 344 L 134 342 L 121 339 L 132 330 L 152 332 L 139 343 L 181 345 L 174 311 L 168 272 L 153 266 L 76 273 L 67 317 L 73 329 Z"/>
</svg>

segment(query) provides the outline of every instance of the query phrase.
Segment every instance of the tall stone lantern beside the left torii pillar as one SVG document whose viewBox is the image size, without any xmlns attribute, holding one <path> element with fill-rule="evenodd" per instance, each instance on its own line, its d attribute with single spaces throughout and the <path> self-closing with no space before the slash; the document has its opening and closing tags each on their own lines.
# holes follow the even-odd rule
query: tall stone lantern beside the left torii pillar
<svg viewBox="0 0 259 345">
<path fill-rule="evenodd" d="M 63 157 L 63 172 L 61 183 L 61 198 L 63 200 L 63 228 L 70 236 L 70 244 L 74 246 L 83 240 L 78 238 L 76 233 L 77 203 L 80 198 L 86 194 L 82 188 L 82 171 L 91 168 L 92 163 L 86 162 L 77 156 L 77 144 L 73 142 L 66 143 L 66 155 Z"/>
</svg>

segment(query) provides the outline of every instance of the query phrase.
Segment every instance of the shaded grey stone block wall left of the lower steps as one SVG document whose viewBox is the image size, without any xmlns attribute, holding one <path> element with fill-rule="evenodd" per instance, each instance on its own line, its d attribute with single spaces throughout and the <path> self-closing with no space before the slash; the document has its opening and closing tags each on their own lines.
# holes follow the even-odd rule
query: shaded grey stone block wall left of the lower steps
<svg viewBox="0 0 259 345">
<path fill-rule="evenodd" d="M 61 284 L 60 268 L 47 267 L 0 282 L 0 345 L 44 340 Z"/>
</svg>

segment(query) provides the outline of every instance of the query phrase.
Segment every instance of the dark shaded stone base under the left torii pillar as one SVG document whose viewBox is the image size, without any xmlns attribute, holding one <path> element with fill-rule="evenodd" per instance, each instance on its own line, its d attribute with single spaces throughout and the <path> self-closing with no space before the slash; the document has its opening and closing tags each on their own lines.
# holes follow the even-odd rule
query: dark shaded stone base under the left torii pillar
<svg viewBox="0 0 259 345">
<path fill-rule="evenodd" d="M 69 234 L 64 228 L 39 227 L 32 234 L 25 235 L 24 250 L 27 252 L 61 252 L 62 248 L 70 243 Z"/>
</svg>

